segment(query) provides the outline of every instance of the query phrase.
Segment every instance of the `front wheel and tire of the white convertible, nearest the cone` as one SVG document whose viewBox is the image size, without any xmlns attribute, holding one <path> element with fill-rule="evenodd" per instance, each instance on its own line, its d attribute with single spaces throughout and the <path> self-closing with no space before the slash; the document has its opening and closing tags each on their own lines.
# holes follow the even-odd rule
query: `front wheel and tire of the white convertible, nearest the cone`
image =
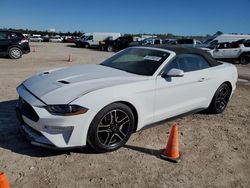
<svg viewBox="0 0 250 188">
<path fill-rule="evenodd" d="M 134 129 L 134 115 L 122 103 L 104 107 L 91 122 L 88 144 L 97 152 L 109 152 L 122 147 Z"/>
</svg>

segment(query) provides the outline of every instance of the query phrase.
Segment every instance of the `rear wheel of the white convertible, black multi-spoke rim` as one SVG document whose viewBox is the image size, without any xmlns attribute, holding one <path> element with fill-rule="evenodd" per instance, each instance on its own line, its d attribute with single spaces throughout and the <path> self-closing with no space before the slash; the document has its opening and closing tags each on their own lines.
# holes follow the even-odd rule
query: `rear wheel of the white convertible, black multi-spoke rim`
<svg viewBox="0 0 250 188">
<path fill-rule="evenodd" d="M 213 114 L 222 113 L 227 106 L 230 96 L 230 87 L 226 83 L 223 83 L 215 92 L 208 111 Z"/>
</svg>

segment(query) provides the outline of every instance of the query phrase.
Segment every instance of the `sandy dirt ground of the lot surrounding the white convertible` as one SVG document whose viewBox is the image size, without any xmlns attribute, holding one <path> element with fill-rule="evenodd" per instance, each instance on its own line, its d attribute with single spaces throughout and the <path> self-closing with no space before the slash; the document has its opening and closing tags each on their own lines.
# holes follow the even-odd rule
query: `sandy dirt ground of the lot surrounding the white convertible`
<svg viewBox="0 0 250 188">
<path fill-rule="evenodd" d="M 12 187 L 250 187 L 250 82 L 238 82 L 223 114 L 177 120 L 183 157 L 178 164 L 159 158 L 172 122 L 133 134 L 111 153 L 54 151 L 31 146 L 19 133 L 15 88 L 39 71 L 99 63 L 112 53 L 52 43 L 31 48 L 35 52 L 19 60 L 0 58 L 0 170 Z M 237 67 L 250 80 L 250 65 Z"/>
</svg>

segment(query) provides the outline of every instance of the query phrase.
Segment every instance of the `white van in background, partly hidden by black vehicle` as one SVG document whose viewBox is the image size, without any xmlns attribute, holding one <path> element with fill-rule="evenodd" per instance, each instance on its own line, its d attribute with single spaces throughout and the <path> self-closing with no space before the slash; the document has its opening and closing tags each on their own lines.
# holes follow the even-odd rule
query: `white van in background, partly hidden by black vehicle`
<svg viewBox="0 0 250 188">
<path fill-rule="evenodd" d="M 103 33 L 103 32 L 94 32 L 94 33 L 85 33 L 79 40 L 75 42 L 77 47 L 98 47 L 99 41 L 110 38 L 112 40 L 117 39 L 121 36 L 121 33 Z"/>
</svg>

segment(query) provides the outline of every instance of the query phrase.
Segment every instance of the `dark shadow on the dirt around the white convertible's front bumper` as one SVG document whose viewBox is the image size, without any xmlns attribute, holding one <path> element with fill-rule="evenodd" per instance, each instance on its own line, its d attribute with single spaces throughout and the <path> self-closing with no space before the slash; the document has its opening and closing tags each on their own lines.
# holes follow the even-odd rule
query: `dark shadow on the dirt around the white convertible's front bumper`
<svg viewBox="0 0 250 188">
<path fill-rule="evenodd" d="M 33 146 L 19 129 L 15 106 L 17 100 L 0 102 L 0 149 L 31 157 L 49 157 L 70 153 L 94 154 L 90 147 L 80 149 L 56 150 Z"/>
</svg>

